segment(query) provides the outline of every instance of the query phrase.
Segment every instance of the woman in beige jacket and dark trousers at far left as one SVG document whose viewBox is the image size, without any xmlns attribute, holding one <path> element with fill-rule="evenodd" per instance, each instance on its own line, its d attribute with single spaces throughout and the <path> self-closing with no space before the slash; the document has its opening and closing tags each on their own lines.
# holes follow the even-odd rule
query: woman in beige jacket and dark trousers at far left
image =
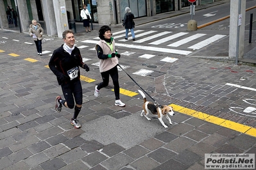
<svg viewBox="0 0 256 170">
<path fill-rule="evenodd" d="M 35 45 L 37 46 L 37 55 L 42 56 L 42 35 L 44 35 L 44 29 L 42 29 L 41 24 L 33 19 L 28 33 L 32 36 Z"/>
</svg>

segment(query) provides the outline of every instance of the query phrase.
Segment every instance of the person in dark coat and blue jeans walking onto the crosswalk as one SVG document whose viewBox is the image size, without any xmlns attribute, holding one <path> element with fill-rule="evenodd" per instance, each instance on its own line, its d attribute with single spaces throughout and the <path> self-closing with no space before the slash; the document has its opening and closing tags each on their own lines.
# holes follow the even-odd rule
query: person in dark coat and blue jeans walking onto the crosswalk
<svg viewBox="0 0 256 170">
<path fill-rule="evenodd" d="M 129 29 L 132 33 L 132 40 L 135 41 L 135 34 L 133 28 L 135 27 L 135 22 L 133 21 L 134 15 L 129 7 L 125 8 L 125 15 L 122 26 L 125 28 L 125 40 L 128 40 Z"/>
</svg>

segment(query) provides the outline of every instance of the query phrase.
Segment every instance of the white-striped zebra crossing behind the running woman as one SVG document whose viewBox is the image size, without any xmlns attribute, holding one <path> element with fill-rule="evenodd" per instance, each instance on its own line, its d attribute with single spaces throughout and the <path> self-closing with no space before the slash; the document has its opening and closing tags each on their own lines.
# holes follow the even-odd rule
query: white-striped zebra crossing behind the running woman
<svg viewBox="0 0 256 170">
<path fill-rule="evenodd" d="M 129 32 L 128 40 L 125 40 L 125 29 L 113 33 L 115 39 L 116 47 L 124 47 L 129 49 L 141 49 L 157 52 L 166 52 L 170 54 L 182 54 L 188 55 L 194 52 L 194 50 L 201 49 L 210 43 L 216 42 L 219 39 L 225 37 L 226 35 L 207 35 L 204 33 L 196 33 L 191 35 L 191 32 L 178 32 L 173 33 L 173 31 L 146 31 L 146 30 L 135 30 L 135 41 L 131 41 L 131 33 Z M 94 39 L 99 39 L 96 37 Z M 98 43 L 98 40 L 84 40 L 84 43 Z M 124 42 L 124 43 L 119 43 Z M 139 43 L 147 43 L 148 45 L 138 45 Z M 166 43 L 170 42 L 166 45 Z M 186 45 L 190 44 L 194 45 Z M 194 43 L 195 42 L 195 43 Z M 152 47 L 152 45 L 162 45 L 161 47 Z M 163 47 L 166 45 L 166 47 Z M 183 46 L 185 49 L 181 49 Z M 189 47 L 190 46 L 190 47 Z M 84 46 L 81 46 L 84 47 Z M 81 48 L 80 47 L 80 48 Z M 168 47 L 179 47 L 179 49 L 169 49 Z M 192 50 L 191 50 L 192 49 Z"/>
</svg>

